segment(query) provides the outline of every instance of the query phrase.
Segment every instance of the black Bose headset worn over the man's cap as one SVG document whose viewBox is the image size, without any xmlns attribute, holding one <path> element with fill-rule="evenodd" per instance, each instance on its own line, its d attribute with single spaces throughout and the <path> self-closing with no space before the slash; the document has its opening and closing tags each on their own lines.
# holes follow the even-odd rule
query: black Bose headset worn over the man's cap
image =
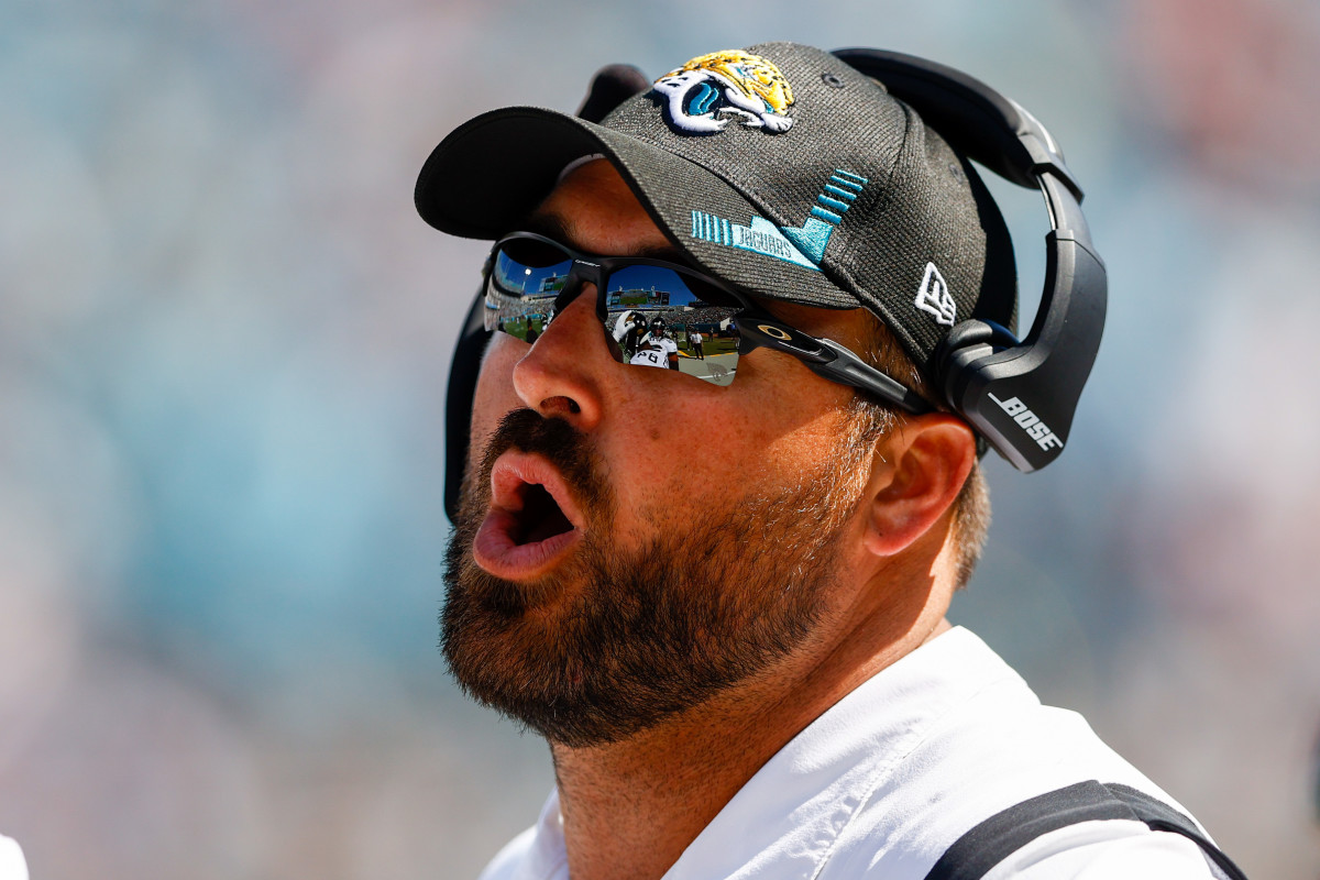
<svg viewBox="0 0 1320 880">
<path fill-rule="evenodd" d="M 945 402 L 1014 467 L 1024 472 L 1044 467 L 1068 441 L 1105 329 L 1105 264 L 1081 212 L 1081 187 L 1045 127 L 985 83 L 895 51 L 838 49 L 834 55 L 911 106 L 954 150 L 1019 186 L 1040 187 L 1051 230 L 1045 286 L 1031 331 L 1019 340 L 991 322 L 964 321 L 936 352 L 935 380 Z M 578 116 L 601 121 L 649 87 L 635 67 L 605 67 Z M 445 511 L 450 520 L 458 512 L 477 376 L 491 335 L 483 325 L 483 294 L 478 292 L 467 311 L 449 372 Z"/>
</svg>

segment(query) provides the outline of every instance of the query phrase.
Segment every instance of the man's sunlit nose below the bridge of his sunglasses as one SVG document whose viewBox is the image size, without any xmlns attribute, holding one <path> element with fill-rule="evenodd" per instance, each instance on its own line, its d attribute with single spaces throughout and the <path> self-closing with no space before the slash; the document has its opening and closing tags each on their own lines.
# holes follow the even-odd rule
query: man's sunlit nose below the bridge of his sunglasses
<svg viewBox="0 0 1320 880">
<path fill-rule="evenodd" d="M 601 422 L 602 369 L 616 365 L 595 317 L 595 285 L 583 285 L 513 367 L 513 391 L 524 405 L 579 430 Z"/>
</svg>

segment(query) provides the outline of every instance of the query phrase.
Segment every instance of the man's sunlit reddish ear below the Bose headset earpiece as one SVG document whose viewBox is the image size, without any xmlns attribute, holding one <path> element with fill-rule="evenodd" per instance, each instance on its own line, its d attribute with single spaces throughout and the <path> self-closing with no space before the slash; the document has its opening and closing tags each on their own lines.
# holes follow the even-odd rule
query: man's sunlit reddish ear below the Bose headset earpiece
<svg viewBox="0 0 1320 880">
<path fill-rule="evenodd" d="M 945 413 L 906 417 L 875 449 L 865 496 L 866 549 L 891 557 L 929 533 L 975 460 L 975 437 L 966 422 Z"/>
</svg>

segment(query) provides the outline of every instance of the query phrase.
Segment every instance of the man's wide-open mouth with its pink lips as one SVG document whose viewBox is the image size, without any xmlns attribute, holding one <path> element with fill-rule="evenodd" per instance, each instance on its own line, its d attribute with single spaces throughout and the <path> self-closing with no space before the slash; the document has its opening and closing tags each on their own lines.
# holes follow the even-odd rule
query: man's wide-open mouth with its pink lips
<svg viewBox="0 0 1320 880">
<path fill-rule="evenodd" d="M 544 574 L 578 541 L 581 522 L 558 471 L 539 455 L 511 450 L 491 470 L 491 507 L 473 558 L 502 578 Z"/>
</svg>

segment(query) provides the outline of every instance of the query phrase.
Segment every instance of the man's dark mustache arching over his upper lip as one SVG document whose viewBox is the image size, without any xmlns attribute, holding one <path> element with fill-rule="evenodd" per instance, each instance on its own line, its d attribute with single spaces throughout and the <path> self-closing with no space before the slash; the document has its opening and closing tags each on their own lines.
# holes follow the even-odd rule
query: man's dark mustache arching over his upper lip
<svg viewBox="0 0 1320 880">
<path fill-rule="evenodd" d="M 558 470 L 569 491 L 589 515 L 607 508 L 607 475 L 591 441 L 562 418 L 545 418 L 532 409 L 515 409 L 491 433 L 478 468 L 477 488 L 490 493 L 495 460 L 511 449 L 535 453 Z"/>
</svg>

